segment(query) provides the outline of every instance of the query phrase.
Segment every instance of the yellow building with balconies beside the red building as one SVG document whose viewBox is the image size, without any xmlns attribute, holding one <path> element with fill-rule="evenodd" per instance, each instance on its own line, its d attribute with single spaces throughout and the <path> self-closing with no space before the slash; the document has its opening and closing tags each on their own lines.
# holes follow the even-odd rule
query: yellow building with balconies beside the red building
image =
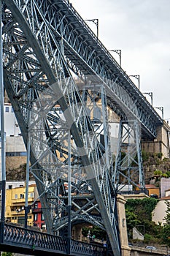
<svg viewBox="0 0 170 256">
<path fill-rule="evenodd" d="M 28 187 L 28 205 L 34 203 L 38 197 L 36 184 Z M 25 223 L 25 202 L 26 202 L 26 187 L 16 187 L 13 189 L 6 189 L 6 211 L 5 217 L 7 222 L 18 223 L 24 225 Z M 28 213 L 27 225 L 34 225 L 34 214 L 32 211 Z"/>
</svg>

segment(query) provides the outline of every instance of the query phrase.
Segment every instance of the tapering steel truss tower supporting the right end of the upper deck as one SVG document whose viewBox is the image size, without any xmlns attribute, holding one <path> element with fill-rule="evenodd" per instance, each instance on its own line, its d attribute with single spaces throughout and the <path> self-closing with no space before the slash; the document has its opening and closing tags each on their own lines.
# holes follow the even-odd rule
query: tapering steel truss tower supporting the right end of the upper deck
<svg viewBox="0 0 170 256">
<path fill-rule="evenodd" d="M 124 190 L 129 193 L 134 190 L 133 187 L 139 187 L 139 190 L 144 192 L 145 182 L 140 140 L 138 121 L 120 121 L 113 176 L 117 192 Z"/>
</svg>

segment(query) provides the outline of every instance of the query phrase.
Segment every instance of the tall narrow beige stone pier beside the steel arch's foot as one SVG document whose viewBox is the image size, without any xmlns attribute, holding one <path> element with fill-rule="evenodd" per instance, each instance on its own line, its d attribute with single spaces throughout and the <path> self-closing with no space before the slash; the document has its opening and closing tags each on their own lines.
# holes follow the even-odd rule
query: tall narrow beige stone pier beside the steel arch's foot
<svg viewBox="0 0 170 256">
<path fill-rule="evenodd" d="M 120 244 L 122 256 L 130 256 L 131 248 L 129 248 L 128 246 L 128 233 L 125 220 L 125 203 L 125 198 L 121 195 L 117 195 L 117 215 L 120 230 Z"/>
</svg>

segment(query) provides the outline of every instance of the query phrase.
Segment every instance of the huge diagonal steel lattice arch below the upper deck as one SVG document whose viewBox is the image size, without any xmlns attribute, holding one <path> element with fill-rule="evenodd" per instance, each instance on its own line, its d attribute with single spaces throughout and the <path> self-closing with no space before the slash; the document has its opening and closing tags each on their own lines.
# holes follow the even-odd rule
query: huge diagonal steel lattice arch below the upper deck
<svg viewBox="0 0 170 256">
<path fill-rule="evenodd" d="M 58 138 L 65 142 L 60 139 L 60 133 L 66 138 L 66 131 L 71 129 L 74 138 L 72 154 L 81 159 L 114 255 L 120 255 L 115 190 L 93 126 L 61 53 L 62 48 L 58 47 L 58 40 L 36 1 L 5 0 L 3 4 L 4 82 L 25 143 L 28 132 L 36 143 L 35 148 L 34 144 L 31 147 L 31 168 L 48 231 L 52 232 L 54 214 L 54 211 L 50 212 L 50 206 L 61 199 L 55 195 L 56 176 L 61 164 L 55 153 L 56 145 Z M 58 125 L 62 124 L 61 129 L 55 126 L 52 129 L 49 124 L 54 119 L 58 121 L 54 114 L 56 104 L 60 105 L 65 117 L 65 121 L 58 122 Z M 63 148 L 66 149 L 66 145 Z"/>
</svg>

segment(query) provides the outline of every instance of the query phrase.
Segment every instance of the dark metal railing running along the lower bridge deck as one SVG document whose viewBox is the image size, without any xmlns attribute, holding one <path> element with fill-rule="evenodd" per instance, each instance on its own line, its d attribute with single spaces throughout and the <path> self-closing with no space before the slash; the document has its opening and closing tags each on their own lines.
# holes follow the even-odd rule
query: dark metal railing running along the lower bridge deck
<svg viewBox="0 0 170 256">
<path fill-rule="evenodd" d="M 1 236 L 3 234 L 1 233 Z M 4 237 L 1 239 L 3 244 L 12 246 L 21 246 L 27 249 L 47 250 L 48 252 L 63 252 L 67 253 L 68 238 L 54 236 L 47 233 L 42 233 L 36 230 L 17 227 L 15 225 L 4 224 Z M 71 239 L 71 254 L 74 255 L 93 255 L 104 256 L 107 254 L 107 249 L 104 246 L 98 246 L 81 241 Z"/>
</svg>

